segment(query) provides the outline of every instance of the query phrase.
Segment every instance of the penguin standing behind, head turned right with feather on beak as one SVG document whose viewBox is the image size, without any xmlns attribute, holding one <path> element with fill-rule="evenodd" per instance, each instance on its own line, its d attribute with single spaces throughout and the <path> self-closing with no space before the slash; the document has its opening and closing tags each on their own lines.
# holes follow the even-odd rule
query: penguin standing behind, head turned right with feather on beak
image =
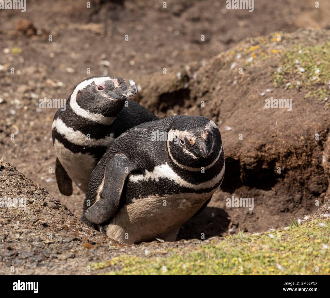
<svg viewBox="0 0 330 298">
<path fill-rule="evenodd" d="M 52 124 L 60 192 L 70 196 L 72 181 L 86 193 L 89 176 L 106 149 L 125 130 L 157 119 L 137 102 L 134 82 L 113 76 L 83 80 L 59 109 Z"/>
</svg>

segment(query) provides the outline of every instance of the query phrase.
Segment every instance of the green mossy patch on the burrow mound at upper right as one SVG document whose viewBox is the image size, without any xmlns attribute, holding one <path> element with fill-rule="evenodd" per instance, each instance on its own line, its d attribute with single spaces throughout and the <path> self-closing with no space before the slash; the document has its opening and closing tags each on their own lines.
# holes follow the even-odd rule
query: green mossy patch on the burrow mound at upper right
<svg viewBox="0 0 330 298">
<path fill-rule="evenodd" d="M 330 95 L 330 42 L 281 51 L 279 68 L 273 72 L 275 87 L 308 90 L 305 97 L 323 101 Z M 297 83 L 298 82 L 298 83 Z"/>
</svg>

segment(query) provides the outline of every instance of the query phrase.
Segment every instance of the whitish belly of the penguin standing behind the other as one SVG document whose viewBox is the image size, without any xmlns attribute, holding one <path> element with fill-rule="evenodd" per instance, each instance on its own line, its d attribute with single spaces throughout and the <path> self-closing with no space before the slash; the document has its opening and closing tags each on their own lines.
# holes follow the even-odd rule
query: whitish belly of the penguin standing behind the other
<svg viewBox="0 0 330 298">
<path fill-rule="evenodd" d="M 54 149 L 57 158 L 72 181 L 86 193 L 88 190 L 89 176 L 95 168 L 97 160 L 88 154 L 71 152 L 58 140 L 54 142 Z"/>
</svg>

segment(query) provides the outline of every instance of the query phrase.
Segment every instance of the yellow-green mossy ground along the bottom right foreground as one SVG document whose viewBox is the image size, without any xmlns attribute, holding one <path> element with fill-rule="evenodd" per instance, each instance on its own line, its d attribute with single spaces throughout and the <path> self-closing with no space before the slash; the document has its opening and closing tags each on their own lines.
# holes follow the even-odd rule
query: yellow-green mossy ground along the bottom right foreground
<svg viewBox="0 0 330 298">
<path fill-rule="evenodd" d="M 321 223 L 321 224 L 319 224 Z M 164 257 L 122 255 L 97 263 L 110 275 L 321 274 L 330 273 L 330 219 L 261 234 L 239 233 L 211 244 L 173 249 Z M 327 245 L 327 246 L 326 246 Z"/>
</svg>

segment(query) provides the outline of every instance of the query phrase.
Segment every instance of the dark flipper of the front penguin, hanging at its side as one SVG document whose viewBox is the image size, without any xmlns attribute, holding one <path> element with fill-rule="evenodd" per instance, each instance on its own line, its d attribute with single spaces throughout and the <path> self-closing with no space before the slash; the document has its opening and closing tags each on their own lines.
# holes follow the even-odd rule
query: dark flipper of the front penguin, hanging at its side
<svg viewBox="0 0 330 298">
<path fill-rule="evenodd" d="M 126 177 L 135 169 L 137 166 L 123 153 L 117 153 L 108 162 L 104 171 L 103 188 L 98 193 L 99 198 L 85 212 L 88 220 L 100 224 L 115 214 Z"/>
</svg>

